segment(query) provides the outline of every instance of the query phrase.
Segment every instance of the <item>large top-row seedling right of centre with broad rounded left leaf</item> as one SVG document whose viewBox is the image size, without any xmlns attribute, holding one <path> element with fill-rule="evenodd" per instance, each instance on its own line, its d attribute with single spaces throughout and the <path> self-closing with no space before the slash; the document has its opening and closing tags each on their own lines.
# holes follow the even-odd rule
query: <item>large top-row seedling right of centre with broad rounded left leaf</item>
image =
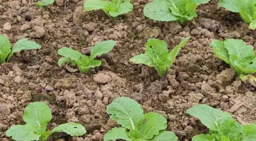
<svg viewBox="0 0 256 141">
<path fill-rule="evenodd" d="M 197 17 L 195 9 L 210 0 L 154 0 L 144 7 L 144 15 L 158 21 L 176 21 L 180 24 Z"/>
</svg>

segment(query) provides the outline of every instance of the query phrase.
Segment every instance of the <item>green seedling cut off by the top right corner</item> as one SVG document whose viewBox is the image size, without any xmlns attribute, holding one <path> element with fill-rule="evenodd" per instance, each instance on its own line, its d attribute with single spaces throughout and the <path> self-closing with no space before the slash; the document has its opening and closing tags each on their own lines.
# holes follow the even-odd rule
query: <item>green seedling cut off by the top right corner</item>
<svg viewBox="0 0 256 141">
<path fill-rule="evenodd" d="M 249 29 L 256 29 L 256 0 L 220 0 L 219 6 L 239 13 Z"/>
</svg>

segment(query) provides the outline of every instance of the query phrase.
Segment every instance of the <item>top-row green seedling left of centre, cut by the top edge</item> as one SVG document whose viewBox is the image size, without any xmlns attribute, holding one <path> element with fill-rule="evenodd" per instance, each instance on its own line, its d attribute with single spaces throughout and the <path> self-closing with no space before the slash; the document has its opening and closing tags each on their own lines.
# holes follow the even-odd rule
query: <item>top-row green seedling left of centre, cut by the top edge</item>
<svg viewBox="0 0 256 141">
<path fill-rule="evenodd" d="M 86 0 L 83 4 L 84 11 L 102 9 L 109 17 L 116 17 L 132 11 L 130 0 Z"/>
</svg>

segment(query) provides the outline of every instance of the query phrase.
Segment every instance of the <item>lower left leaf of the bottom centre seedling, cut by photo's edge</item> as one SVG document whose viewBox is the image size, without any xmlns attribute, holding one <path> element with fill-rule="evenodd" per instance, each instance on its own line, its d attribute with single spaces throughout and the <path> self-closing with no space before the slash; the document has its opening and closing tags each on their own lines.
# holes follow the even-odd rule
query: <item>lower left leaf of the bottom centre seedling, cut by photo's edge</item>
<svg viewBox="0 0 256 141">
<path fill-rule="evenodd" d="M 112 128 L 104 136 L 104 141 L 115 141 L 117 139 L 132 141 L 128 136 L 128 132 L 126 132 L 126 128 Z"/>
</svg>

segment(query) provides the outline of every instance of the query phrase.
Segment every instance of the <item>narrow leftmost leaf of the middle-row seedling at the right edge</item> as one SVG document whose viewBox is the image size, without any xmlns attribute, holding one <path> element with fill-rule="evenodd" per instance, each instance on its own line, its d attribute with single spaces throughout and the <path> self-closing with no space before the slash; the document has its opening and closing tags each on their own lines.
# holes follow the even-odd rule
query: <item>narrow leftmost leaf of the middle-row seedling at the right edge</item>
<svg viewBox="0 0 256 141">
<path fill-rule="evenodd" d="M 213 48 L 213 53 L 220 58 L 221 60 L 225 61 L 226 63 L 230 64 L 228 50 L 224 47 L 224 42 L 221 40 L 213 40 L 210 45 Z"/>
</svg>

